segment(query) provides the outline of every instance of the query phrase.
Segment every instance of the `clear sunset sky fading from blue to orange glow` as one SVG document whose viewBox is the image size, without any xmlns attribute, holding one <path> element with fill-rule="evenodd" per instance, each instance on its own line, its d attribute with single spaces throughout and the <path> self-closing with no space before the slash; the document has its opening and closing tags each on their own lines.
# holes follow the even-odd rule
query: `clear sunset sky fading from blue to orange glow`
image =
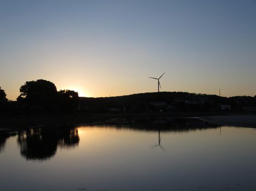
<svg viewBox="0 0 256 191">
<path fill-rule="evenodd" d="M 256 0 L 0 0 L 0 86 L 256 95 Z"/>
</svg>

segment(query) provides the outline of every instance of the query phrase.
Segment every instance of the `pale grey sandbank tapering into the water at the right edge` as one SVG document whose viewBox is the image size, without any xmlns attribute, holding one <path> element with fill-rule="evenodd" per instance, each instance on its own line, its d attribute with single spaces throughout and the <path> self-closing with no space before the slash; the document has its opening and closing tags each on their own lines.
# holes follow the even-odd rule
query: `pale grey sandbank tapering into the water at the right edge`
<svg viewBox="0 0 256 191">
<path fill-rule="evenodd" d="M 254 127 L 256 128 L 256 115 L 228 115 L 198 117 L 203 121 L 223 126 Z"/>
</svg>

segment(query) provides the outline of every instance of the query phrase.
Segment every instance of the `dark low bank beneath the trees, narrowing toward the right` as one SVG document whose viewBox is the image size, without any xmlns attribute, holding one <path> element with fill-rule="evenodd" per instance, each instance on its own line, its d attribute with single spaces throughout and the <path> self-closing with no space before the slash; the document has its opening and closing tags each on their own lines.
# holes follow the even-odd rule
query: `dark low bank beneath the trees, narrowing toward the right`
<svg viewBox="0 0 256 191">
<path fill-rule="evenodd" d="M 22 128 L 29 126 L 62 126 L 98 123 L 112 118 L 130 117 L 196 117 L 202 113 L 195 112 L 110 112 L 110 113 L 61 113 L 30 115 L 0 115 L 0 128 Z M 209 114 L 211 115 L 211 114 Z M 214 113 L 212 115 L 218 115 Z"/>
</svg>

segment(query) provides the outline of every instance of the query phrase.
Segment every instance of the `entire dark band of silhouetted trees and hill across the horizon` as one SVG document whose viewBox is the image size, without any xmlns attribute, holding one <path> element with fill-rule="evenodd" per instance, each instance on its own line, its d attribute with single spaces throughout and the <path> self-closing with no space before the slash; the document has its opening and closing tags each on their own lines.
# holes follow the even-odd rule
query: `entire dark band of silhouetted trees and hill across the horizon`
<svg viewBox="0 0 256 191">
<path fill-rule="evenodd" d="M 47 80 L 27 81 L 15 102 L 8 101 L 0 87 L 0 112 L 256 112 L 256 96 L 220 97 L 187 92 L 139 93 L 129 96 L 87 98 L 69 89 L 57 91 Z"/>
</svg>

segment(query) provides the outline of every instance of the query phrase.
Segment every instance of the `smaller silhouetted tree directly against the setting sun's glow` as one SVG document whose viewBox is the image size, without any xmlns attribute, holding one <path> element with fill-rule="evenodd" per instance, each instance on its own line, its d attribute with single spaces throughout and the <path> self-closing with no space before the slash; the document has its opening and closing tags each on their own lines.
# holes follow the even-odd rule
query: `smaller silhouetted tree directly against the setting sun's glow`
<svg viewBox="0 0 256 191">
<path fill-rule="evenodd" d="M 59 103 L 61 111 L 74 111 L 78 105 L 78 93 L 69 89 L 60 90 Z"/>
</svg>

